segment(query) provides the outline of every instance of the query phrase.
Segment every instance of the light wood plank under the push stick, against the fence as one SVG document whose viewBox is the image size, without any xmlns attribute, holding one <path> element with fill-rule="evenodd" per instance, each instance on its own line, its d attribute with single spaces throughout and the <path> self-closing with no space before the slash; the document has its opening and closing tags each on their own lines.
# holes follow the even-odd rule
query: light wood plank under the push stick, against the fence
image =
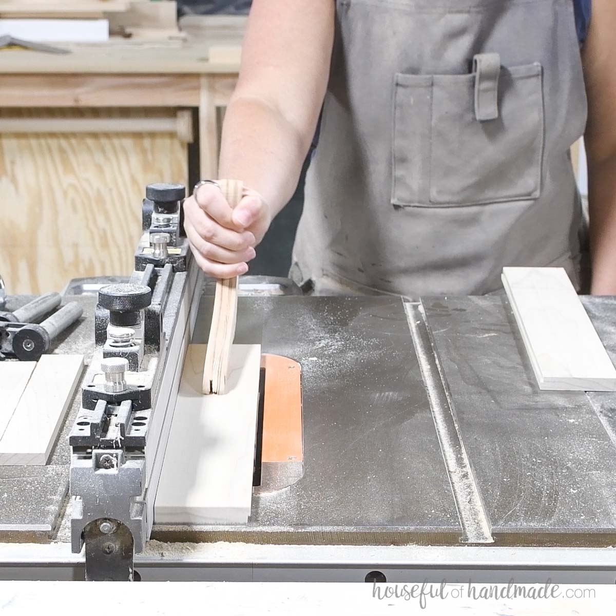
<svg viewBox="0 0 616 616">
<path fill-rule="evenodd" d="M 156 524 L 246 524 L 261 346 L 235 344 L 227 394 L 202 395 L 206 346 L 188 346 L 154 506 Z"/>
</svg>

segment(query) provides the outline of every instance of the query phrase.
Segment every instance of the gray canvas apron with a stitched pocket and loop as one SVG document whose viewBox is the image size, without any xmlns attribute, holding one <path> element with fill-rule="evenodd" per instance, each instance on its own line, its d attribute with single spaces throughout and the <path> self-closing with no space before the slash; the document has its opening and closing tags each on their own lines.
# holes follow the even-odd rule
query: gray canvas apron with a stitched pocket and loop
<svg viewBox="0 0 616 616">
<path fill-rule="evenodd" d="M 552 265 L 577 284 L 585 123 L 571 0 L 338 0 L 291 277 L 484 294 L 505 265 Z"/>
</svg>

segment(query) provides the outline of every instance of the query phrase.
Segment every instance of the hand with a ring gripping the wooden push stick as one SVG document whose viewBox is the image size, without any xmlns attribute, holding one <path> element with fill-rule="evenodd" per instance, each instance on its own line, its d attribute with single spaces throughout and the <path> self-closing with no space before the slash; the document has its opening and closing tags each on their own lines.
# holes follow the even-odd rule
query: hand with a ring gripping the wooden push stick
<svg viewBox="0 0 616 616">
<path fill-rule="evenodd" d="M 195 198 L 196 197 L 196 198 Z M 254 247 L 271 222 L 261 195 L 245 190 L 232 209 L 214 184 L 203 184 L 184 201 L 184 229 L 199 267 L 214 278 L 233 278 L 248 271 Z"/>
</svg>

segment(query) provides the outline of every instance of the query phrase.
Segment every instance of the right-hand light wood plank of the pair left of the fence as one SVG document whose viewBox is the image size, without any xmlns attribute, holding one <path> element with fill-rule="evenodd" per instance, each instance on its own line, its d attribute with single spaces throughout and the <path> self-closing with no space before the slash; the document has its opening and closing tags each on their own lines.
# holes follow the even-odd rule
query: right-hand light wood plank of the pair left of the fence
<svg viewBox="0 0 616 616">
<path fill-rule="evenodd" d="M 42 466 L 83 369 L 83 355 L 43 355 L 0 439 L 0 465 Z"/>
</svg>

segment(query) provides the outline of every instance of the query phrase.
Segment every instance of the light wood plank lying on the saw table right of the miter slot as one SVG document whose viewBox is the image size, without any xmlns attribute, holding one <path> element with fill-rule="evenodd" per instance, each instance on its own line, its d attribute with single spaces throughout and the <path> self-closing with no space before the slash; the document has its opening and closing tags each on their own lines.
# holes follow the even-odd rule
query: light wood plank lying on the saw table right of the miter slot
<svg viewBox="0 0 616 616">
<path fill-rule="evenodd" d="M 561 267 L 505 267 L 503 285 L 540 389 L 616 391 L 616 369 Z"/>
</svg>

